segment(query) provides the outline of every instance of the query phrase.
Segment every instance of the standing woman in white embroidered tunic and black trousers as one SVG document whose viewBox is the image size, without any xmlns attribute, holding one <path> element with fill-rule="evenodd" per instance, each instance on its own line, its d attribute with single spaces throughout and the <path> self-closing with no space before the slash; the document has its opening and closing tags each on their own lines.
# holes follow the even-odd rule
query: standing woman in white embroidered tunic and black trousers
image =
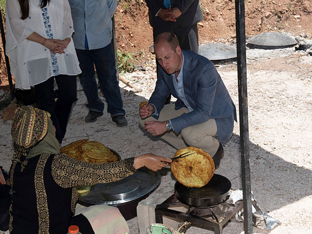
<svg viewBox="0 0 312 234">
<path fill-rule="evenodd" d="M 61 144 L 81 73 L 68 0 L 6 0 L 6 47 L 16 89 L 35 86 Z M 59 97 L 54 99 L 54 78 Z"/>
</svg>

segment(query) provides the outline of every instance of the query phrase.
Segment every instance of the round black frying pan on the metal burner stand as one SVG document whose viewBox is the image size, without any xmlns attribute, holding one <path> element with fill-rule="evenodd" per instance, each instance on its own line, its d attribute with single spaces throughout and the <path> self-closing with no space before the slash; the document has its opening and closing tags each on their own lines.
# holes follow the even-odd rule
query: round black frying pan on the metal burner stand
<svg viewBox="0 0 312 234">
<path fill-rule="evenodd" d="M 231 195 L 231 187 L 228 178 L 214 174 L 202 188 L 188 188 L 176 181 L 175 191 L 177 199 L 186 205 L 208 207 L 225 202 Z"/>
</svg>

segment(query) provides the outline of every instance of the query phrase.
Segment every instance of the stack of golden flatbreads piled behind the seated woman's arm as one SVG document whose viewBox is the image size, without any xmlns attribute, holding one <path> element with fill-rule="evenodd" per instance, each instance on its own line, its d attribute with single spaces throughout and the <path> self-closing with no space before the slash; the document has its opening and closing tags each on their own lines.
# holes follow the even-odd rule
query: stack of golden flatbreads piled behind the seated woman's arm
<svg viewBox="0 0 312 234">
<path fill-rule="evenodd" d="M 88 139 L 77 140 L 60 148 L 60 153 L 69 157 L 89 163 L 107 163 L 118 161 L 109 148 L 97 141 L 88 141 Z"/>
</svg>

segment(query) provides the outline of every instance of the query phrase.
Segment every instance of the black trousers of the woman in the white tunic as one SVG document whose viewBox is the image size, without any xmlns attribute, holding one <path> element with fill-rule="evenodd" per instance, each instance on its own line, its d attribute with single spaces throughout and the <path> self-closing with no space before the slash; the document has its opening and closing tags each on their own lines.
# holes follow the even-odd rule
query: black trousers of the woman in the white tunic
<svg viewBox="0 0 312 234">
<path fill-rule="evenodd" d="M 54 99 L 54 78 L 59 89 L 57 101 Z M 76 76 L 59 75 L 35 85 L 39 109 L 50 113 L 59 143 L 65 136 L 70 111 L 77 100 L 76 82 Z"/>
</svg>

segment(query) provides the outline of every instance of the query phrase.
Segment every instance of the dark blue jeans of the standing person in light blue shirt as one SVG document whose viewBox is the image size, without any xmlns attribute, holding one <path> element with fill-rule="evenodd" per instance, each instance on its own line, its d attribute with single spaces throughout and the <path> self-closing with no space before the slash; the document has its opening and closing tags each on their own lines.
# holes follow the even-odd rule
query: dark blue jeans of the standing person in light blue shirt
<svg viewBox="0 0 312 234">
<path fill-rule="evenodd" d="M 76 49 L 79 66 L 82 71 L 80 83 L 87 96 L 86 105 L 91 111 L 102 112 L 104 103 L 98 98 L 98 85 L 95 78 L 94 65 L 98 74 L 98 82 L 107 101 L 107 112 L 111 117 L 125 115 L 116 77 L 113 47 L 110 43 L 104 48 L 95 50 Z"/>
</svg>

